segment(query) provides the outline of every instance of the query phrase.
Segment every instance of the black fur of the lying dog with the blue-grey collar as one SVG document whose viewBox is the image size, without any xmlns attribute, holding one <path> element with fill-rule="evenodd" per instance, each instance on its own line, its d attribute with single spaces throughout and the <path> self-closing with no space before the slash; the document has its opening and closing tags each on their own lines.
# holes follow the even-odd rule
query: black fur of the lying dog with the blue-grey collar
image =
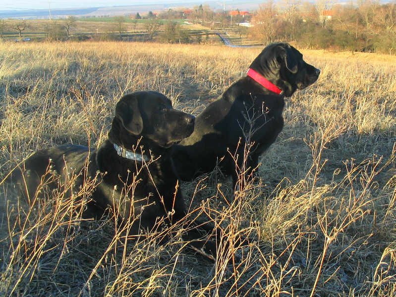
<svg viewBox="0 0 396 297">
<path fill-rule="evenodd" d="M 140 215 L 140 219 L 133 224 L 133 234 L 137 234 L 140 228 L 151 229 L 157 217 L 168 217 L 170 224 L 177 222 L 186 212 L 181 191 L 174 194 L 177 176 L 170 150 L 174 143 L 191 134 L 194 119 L 189 114 L 172 109 L 171 101 L 160 93 L 135 92 L 126 95 L 117 103 L 108 139 L 98 150 L 79 145 L 60 145 L 38 151 L 26 160 L 23 174 L 28 191 L 24 191 L 22 185 L 22 193 L 28 200 L 33 197 L 49 164 L 62 180 L 70 172 L 81 173 L 74 185 L 77 189 L 83 184 L 85 175 L 95 178 L 99 172 L 102 180 L 92 193 L 92 200 L 87 204 L 83 217 L 100 218 L 109 207 L 118 206 L 118 217 L 121 220 L 134 219 Z M 125 197 L 122 189 L 125 185 L 131 185 L 142 162 L 118 156 L 113 143 L 132 151 L 139 139 L 137 152 L 142 150 L 148 159 L 151 155 L 160 158 L 149 164 L 148 168 L 143 167 L 137 176 L 140 181 L 134 189 L 132 203 L 131 193 Z M 84 164 L 89 164 L 88 169 Z M 169 216 L 172 209 L 173 215 Z M 185 237 L 194 240 L 201 235 L 192 230 Z M 197 248 L 203 247 L 200 241 L 193 241 L 193 244 Z M 207 242 L 206 248 L 215 251 L 212 242 Z"/>
</svg>

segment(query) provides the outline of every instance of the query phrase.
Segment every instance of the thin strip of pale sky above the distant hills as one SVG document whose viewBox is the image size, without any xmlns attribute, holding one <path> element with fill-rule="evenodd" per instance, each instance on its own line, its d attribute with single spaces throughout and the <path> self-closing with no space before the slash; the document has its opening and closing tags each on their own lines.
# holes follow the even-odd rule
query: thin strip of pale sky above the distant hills
<svg viewBox="0 0 396 297">
<path fill-rule="evenodd" d="M 0 0 L 0 10 L 104 7 L 158 3 L 191 3 L 191 0 Z"/>
</svg>

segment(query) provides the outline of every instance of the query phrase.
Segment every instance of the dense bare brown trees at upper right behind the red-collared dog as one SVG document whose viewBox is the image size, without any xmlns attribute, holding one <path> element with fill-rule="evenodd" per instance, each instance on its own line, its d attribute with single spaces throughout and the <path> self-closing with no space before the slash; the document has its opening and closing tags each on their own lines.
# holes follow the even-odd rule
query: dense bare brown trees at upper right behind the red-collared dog
<svg viewBox="0 0 396 297">
<path fill-rule="evenodd" d="M 396 51 L 396 4 L 361 0 L 332 5 L 284 0 L 267 1 L 252 18 L 253 38 L 267 44 L 294 41 L 301 47 L 365 52 Z"/>
</svg>

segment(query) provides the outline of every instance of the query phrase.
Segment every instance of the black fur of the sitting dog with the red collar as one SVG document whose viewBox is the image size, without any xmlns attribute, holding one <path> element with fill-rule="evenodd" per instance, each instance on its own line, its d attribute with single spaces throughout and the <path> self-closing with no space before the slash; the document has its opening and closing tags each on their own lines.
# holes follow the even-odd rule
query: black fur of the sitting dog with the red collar
<svg viewBox="0 0 396 297">
<path fill-rule="evenodd" d="M 232 154 L 236 152 L 241 168 L 245 143 L 254 142 L 246 169 L 256 168 L 259 156 L 283 128 L 283 98 L 314 83 L 320 73 L 285 43 L 267 46 L 250 68 L 282 89 L 283 94 L 277 95 L 249 76 L 232 84 L 196 118 L 194 132 L 174 147 L 173 160 L 181 179 L 190 180 L 213 171 L 224 157 L 219 165 L 224 174 L 232 176 L 235 186 L 238 174 L 227 149 Z M 239 138 L 241 143 L 237 146 Z"/>
</svg>

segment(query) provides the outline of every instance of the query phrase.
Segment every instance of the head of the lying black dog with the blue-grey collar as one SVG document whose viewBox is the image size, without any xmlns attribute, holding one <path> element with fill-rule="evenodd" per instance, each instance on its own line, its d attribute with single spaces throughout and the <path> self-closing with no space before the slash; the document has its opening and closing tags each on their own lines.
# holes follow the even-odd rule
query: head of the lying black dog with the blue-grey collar
<svg viewBox="0 0 396 297">
<path fill-rule="evenodd" d="M 115 136 L 124 145 L 142 136 L 160 147 L 169 148 L 190 136 L 194 122 L 194 116 L 173 109 L 171 101 L 163 94 L 139 91 L 118 101 L 112 129 L 118 130 L 116 134 L 119 135 Z"/>
</svg>

